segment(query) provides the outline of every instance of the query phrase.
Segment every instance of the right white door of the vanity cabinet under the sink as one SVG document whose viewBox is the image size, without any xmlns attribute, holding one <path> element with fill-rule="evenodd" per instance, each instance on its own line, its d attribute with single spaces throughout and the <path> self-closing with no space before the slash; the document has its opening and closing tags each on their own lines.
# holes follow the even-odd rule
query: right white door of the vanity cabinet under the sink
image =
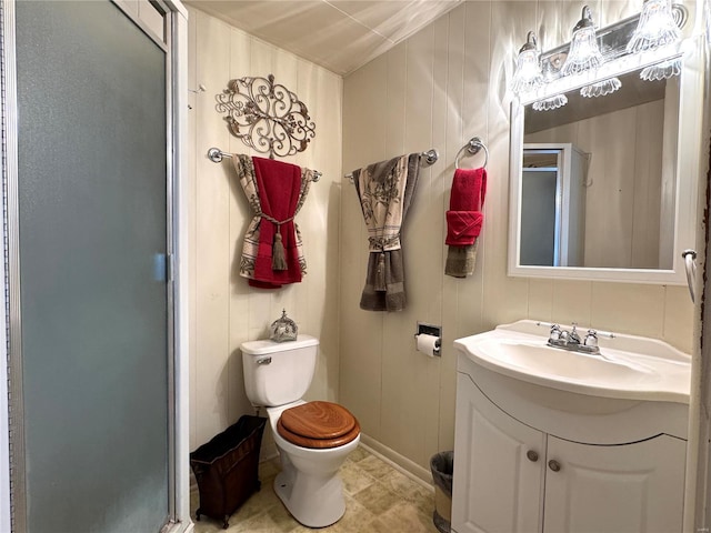
<svg viewBox="0 0 711 533">
<path fill-rule="evenodd" d="M 667 435 L 618 446 L 549 435 L 543 532 L 681 531 L 685 450 Z"/>
</svg>

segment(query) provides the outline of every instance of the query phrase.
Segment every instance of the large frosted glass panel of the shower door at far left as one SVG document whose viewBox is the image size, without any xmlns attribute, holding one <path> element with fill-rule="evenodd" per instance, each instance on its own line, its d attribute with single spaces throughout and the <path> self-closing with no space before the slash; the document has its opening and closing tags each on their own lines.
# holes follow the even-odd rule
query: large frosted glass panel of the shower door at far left
<svg viewBox="0 0 711 533">
<path fill-rule="evenodd" d="M 30 532 L 168 517 L 166 56 L 108 1 L 17 2 Z"/>
</svg>

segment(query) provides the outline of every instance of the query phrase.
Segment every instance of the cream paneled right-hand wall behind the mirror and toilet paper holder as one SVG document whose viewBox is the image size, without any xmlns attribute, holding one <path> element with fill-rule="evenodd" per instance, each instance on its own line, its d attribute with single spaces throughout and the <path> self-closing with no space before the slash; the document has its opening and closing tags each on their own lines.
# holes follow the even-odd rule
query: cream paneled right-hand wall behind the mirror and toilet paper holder
<svg viewBox="0 0 711 533">
<path fill-rule="evenodd" d="M 661 338 L 690 352 L 693 306 L 685 286 L 507 276 L 509 83 L 529 30 L 542 48 L 569 40 L 589 4 L 605 26 L 639 11 L 630 1 L 470 1 L 344 79 L 343 170 L 437 148 L 403 227 L 409 304 L 400 313 L 359 309 L 367 235 L 356 191 L 343 184 L 339 401 L 395 461 L 419 466 L 453 446 L 452 341 L 499 323 L 578 322 Z M 692 6 L 693 7 L 693 6 Z M 444 275 L 444 212 L 454 155 L 473 135 L 489 147 L 484 231 L 473 276 Z M 472 159 L 475 163 L 481 159 Z M 467 160 L 464 160 L 465 164 Z M 414 349 L 417 322 L 443 326 L 441 359 Z"/>
</svg>

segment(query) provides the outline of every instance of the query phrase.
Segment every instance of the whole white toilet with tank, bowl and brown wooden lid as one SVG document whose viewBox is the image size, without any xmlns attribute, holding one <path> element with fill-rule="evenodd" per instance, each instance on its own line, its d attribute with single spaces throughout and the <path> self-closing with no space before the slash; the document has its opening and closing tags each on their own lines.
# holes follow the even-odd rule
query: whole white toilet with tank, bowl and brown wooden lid
<svg viewBox="0 0 711 533">
<path fill-rule="evenodd" d="M 316 370 L 319 340 L 244 342 L 242 364 L 247 398 L 267 408 L 282 471 L 274 492 L 308 527 L 326 527 L 346 512 L 338 470 L 360 442 L 358 420 L 342 405 L 306 402 Z"/>
</svg>

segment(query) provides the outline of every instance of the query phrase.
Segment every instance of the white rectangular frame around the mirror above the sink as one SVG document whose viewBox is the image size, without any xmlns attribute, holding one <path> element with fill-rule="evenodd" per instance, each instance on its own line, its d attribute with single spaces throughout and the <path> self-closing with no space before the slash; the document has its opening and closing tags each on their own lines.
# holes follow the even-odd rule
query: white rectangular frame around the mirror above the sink
<svg viewBox="0 0 711 533">
<path fill-rule="evenodd" d="M 675 224 L 672 270 L 573 268 L 573 266 L 525 266 L 520 264 L 520 212 L 521 175 L 523 162 L 523 108 L 534 101 L 569 92 L 598 80 L 640 70 L 665 59 L 683 54 L 680 81 L 679 137 L 675 170 Z M 702 223 L 698 220 L 699 184 L 701 173 L 702 122 L 701 102 L 703 98 L 703 38 L 693 37 L 669 47 L 663 54 L 659 51 L 644 52 L 611 61 L 595 72 L 558 79 L 539 91 L 522 94 L 511 102 L 511 149 L 510 149 L 510 203 L 509 203 L 509 262 L 511 276 L 557 278 L 577 280 L 618 281 L 627 283 L 658 283 L 685 285 L 684 260 L 681 253 L 694 248 L 697 231 Z M 604 97 L 601 97 L 604 98 Z"/>
</svg>

